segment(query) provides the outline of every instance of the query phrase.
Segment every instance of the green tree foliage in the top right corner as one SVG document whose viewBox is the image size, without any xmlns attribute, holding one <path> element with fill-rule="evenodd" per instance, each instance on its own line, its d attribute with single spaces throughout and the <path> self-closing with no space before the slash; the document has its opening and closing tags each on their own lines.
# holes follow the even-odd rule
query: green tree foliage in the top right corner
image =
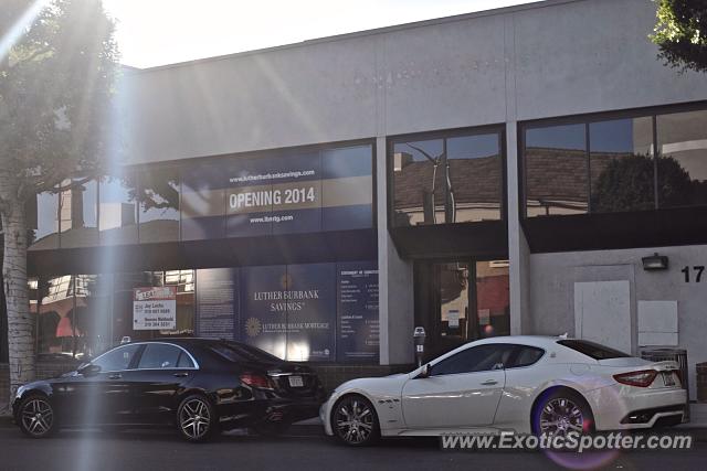
<svg viewBox="0 0 707 471">
<path fill-rule="evenodd" d="M 707 0 L 655 0 L 658 57 L 673 67 L 707 71 Z"/>
</svg>

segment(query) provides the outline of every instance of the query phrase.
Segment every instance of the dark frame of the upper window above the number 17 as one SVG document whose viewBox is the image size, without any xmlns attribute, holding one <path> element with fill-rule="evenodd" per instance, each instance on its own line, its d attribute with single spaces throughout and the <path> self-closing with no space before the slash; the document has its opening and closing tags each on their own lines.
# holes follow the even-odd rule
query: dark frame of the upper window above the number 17
<svg viewBox="0 0 707 471">
<path fill-rule="evenodd" d="M 594 122 L 601 121 L 612 121 L 620 119 L 635 119 L 635 118 L 651 118 L 653 126 L 653 190 L 654 190 L 654 200 L 653 200 L 653 208 L 646 211 L 657 211 L 657 210 L 673 210 L 672 206 L 661 207 L 658 201 L 658 174 L 657 174 L 657 160 L 655 159 L 655 150 L 658 149 L 657 142 L 657 127 L 656 119 L 659 115 L 672 115 L 687 111 L 707 111 L 707 100 L 700 101 L 690 101 L 676 105 L 663 105 L 663 106 L 651 106 L 651 107 L 642 107 L 642 108 L 631 108 L 631 109 L 621 109 L 621 110 L 611 110 L 611 111 L 600 111 L 600 113 L 591 113 L 591 114 L 582 114 L 582 115 L 568 115 L 552 118 L 544 118 L 544 119 L 534 119 L 527 121 L 518 122 L 518 138 L 517 138 L 517 165 L 518 165 L 518 207 L 519 215 L 521 220 L 535 220 L 536 217 L 528 217 L 528 206 L 527 206 L 527 165 L 526 165 L 526 131 L 528 129 L 537 129 L 537 128 L 547 128 L 552 126 L 567 126 L 567 125 L 583 125 L 584 126 L 584 154 L 587 162 L 587 181 L 588 181 L 588 211 L 584 214 L 578 214 L 576 216 L 588 216 L 595 214 L 620 214 L 620 213 L 636 213 L 642 211 L 631 211 L 626 210 L 624 212 L 613 212 L 613 213 L 597 213 L 591 208 L 591 171 L 590 171 L 590 158 L 591 158 L 591 143 L 590 143 L 590 125 Z M 707 207 L 707 205 L 690 205 L 690 206 L 682 206 L 682 207 Z M 567 215 L 549 215 L 542 216 L 541 218 L 562 218 L 567 217 Z"/>
</svg>

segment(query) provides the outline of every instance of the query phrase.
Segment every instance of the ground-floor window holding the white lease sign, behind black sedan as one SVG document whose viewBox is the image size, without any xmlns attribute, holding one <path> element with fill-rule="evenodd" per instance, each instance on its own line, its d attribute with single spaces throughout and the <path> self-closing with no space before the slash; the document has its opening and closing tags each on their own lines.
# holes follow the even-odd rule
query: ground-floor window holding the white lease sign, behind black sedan
<svg viewBox="0 0 707 471">
<path fill-rule="evenodd" d="M 29 288 L 40 354 L 83 358 L 124 338 L 190 336 L 194 332 L 193 270 L 42 277 L 30 279 Z M 160 315 L 173 320 L 162 327 L 136 325 L 136 319 L 141 319 L 136 301 L 149 304 L 152 288 L 167 289 L 155 295 L 155 302 L 167 309 Z"/>
</svg>

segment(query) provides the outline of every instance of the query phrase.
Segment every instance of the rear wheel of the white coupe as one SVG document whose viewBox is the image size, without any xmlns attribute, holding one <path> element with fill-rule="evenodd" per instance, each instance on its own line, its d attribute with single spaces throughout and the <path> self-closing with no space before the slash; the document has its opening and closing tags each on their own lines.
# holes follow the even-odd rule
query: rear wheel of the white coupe
<svg viewBox="0 0 707 471">
<path fill-rule="evenodd" d="M 532 409 L 530 425 L 536 436 L 566 436 L 570 431 L 592 433 L 594 416 L 579 393 L 556 388 L 540 395 Z"/>
</svg>

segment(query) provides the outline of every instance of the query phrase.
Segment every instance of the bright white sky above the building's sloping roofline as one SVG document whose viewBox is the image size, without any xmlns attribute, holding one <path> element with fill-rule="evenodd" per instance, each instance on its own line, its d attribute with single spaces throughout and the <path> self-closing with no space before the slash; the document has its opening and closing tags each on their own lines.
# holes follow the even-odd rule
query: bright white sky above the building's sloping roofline
<svg viewBox="0 0 707 471">
<path fill-rule="evenodd" d="M 123 64 L 152 67 L 535 0 L 103 0 Z"/>
</svg>

